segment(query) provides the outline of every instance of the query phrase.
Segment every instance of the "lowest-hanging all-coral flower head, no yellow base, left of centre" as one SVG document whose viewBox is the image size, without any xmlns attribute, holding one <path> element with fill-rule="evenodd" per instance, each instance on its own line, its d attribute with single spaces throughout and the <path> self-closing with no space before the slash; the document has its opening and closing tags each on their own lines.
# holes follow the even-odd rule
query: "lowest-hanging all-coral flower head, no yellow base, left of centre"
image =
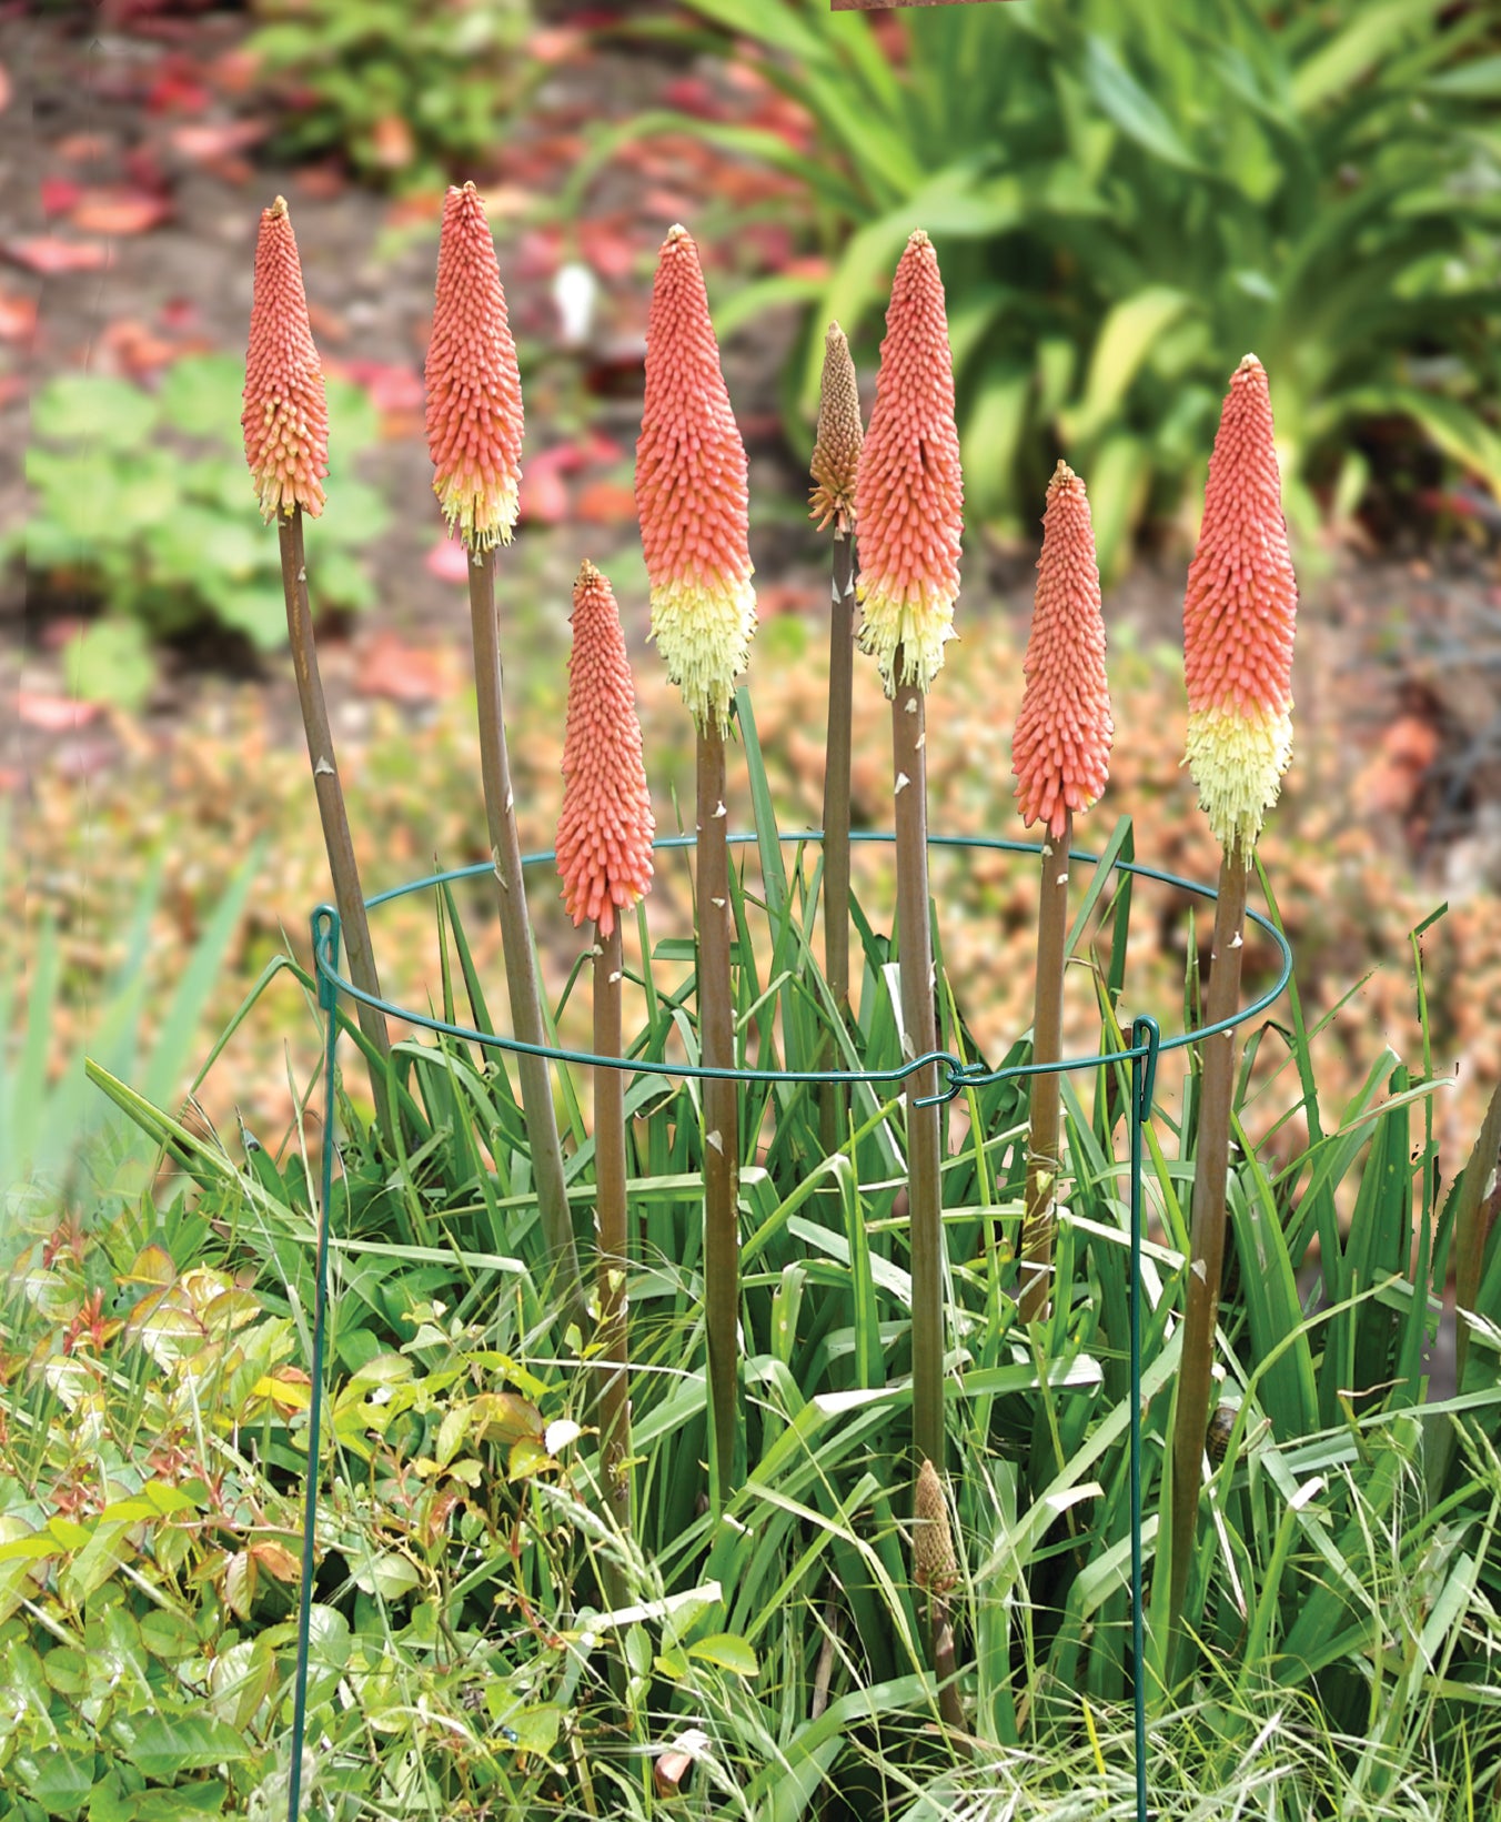
<svg viewBox="0 0 1501 1822">
<path fill-rule="evenodd" d="M 641 760 L 636 689 L 610 583 L 592 563 L 574 583 L 574 654 L 563 736 L 557 873 L 576 924 L 608 937 L 652 882 L 652 798 Z"/>
</svg>

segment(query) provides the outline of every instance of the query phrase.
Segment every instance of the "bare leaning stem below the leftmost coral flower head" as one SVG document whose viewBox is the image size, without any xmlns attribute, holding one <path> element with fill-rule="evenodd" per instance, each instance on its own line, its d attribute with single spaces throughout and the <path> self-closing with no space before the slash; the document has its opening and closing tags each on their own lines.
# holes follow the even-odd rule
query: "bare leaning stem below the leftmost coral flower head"
<svg viewBox="0 0 1501 1822">
<path fill-rule="evenodd" d="M 344 789 L 333 758 L 333 731 L 328 725 L 328 703 L 322 696 L 319 654 L 313 640 L 313 614 L 308 603 L 308 558 L 302 547 L 302 508 L 277 519 L 282 559 L 282 594 L 286 596 L 286 632 L 291 641 L 291 669 L 297 676 L 297 701 L 302 707 L 302 727 L 308 736 L 308 760 L 313 767 L 313 793 L 322 822 L 322 845 L 328 851 L 328 871 L 333 875 L 333 900 L 339 906 L 339 924 L 344 935 L 344 953 L 350 958 L 350 980 L 375 998 L 381 995 L 381 977 L 375 971 L 375 951 L 370 944 L 370 924 L 364 915 L 364 893 L 359 884 L 355 845 L 350 836 L 350 814 L 344 807 Z M 375 1100 L 375 1119 L 383 1133 L 392 1131 L 392 1102 L 386 1064 L 392 1040 L 386 1015 L 355 1002 L 359 1028 L 381 1059 L 370 1066 L 370 1093 Z"/>
</svg>

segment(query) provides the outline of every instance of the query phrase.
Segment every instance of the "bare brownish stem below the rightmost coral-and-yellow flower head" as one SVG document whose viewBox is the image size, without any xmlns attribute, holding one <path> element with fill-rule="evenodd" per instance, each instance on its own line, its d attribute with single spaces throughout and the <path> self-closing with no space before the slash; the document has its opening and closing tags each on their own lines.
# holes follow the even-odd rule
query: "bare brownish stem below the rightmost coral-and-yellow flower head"
<svg viewBox="0 0 1501 1822">
<path fill-rule="evenodd" d="M 1241 958 L 1246 953 L 1246 858 L 1241 844 L 1224 856 L 1215 906 L 1215 949 L 1204 1024 L 1230 1018 L 1241 1004 Z M 1239 1044 L 1235 1031 L 1204 1042 L 1199 1082 L 1199 1139 L 1193 1162 L 1193 1221 L 1190 1226 L 1188 1292 L 1182 1330 L 1179 1396 L 1173 1416 L 1173 1496 L 1169 1623 L 1182 1620 L 1193 1532 L 1199 1520 L 1199 1481 L 1210 1390 L 1215 1363 L 1215 1315 L 1224 1272 L 1224 1192 L 1230 1173 L 1230 1111 L 1235 1093 Z"/>
</svg>

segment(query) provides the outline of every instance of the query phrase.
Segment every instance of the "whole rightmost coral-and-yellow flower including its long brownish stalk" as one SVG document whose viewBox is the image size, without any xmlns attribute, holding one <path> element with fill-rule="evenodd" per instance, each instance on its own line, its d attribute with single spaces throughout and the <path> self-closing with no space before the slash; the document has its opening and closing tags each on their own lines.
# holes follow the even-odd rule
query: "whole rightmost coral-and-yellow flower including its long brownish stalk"
<svg viewBox="0 0 1501 1822">
<path fill-rule="evenodd" d="M 1220 412 L 1204 525 L 1184 592 L 1188 763 L 1224 853 L 1206 1022 L 1233 1017 L 1241 997 L 1246 873 L 1262 820 L 1292 756 L 1292 660 L 1297 578 L 1282 521 L 1266 374 L 1246 355 Z M 1182 1629 L 1224 1270 L 1224 1195 L 1239 1044 L 1204 1039 L 1184 1343 L 1173 1416 L 1169 1623 Z"/>
</svg>

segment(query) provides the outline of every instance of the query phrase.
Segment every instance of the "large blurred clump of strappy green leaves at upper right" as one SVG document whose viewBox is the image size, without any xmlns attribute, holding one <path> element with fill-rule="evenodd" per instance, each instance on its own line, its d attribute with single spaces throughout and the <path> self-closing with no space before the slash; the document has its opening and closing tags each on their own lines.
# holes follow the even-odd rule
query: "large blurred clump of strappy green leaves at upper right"
<svg viewBox="0 0 1501 1822">
<path fill-rule="evenodd" d="M 1392 421 L 1501 486 L 1501 56 L 1445 0 L 1073 0 L 873 22 L 823 0 L 687 0 L 811 115 L 816 149 L 658 115 L 798 175 L 827 279 L 720 299 L 725 333 L 811 302 L 789 379 L 807 441 L 825 324 L 874 370 L 913 228 L 938 244 L 965 494 L 1016 530 L 1057 456 L 1102 559 L 1191 494 L 1228 377 L 1261 355 L 1290 510 L 1350 510 Z M 587 175 L 587 173 L 585 173 Z"/>
</svg>

